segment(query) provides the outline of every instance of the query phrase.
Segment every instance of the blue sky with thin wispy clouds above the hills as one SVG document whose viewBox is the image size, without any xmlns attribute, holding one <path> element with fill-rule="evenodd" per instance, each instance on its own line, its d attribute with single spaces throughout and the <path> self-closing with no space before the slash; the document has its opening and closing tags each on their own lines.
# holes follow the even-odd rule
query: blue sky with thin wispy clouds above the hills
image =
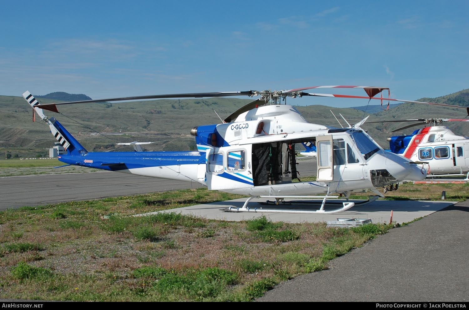
<svg viewBox="0 0 469 310">
<path fill-rule="evenodd" d="M 0 4 L 0 95 L 99 99 L 358 85 L 416 100 L 469 88 L 467 0 Z"/>
</svg>

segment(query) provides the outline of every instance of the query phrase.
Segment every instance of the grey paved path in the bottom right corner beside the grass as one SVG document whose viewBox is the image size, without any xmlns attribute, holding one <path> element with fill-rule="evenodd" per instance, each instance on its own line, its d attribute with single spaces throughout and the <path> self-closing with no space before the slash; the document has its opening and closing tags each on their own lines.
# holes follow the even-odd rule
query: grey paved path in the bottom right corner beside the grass
<svg viewBox="0 0 469 310">
<path fill-rule="evenodd" d="M 257 302 L 468 302 L 469 200 L 391 229 Z"/>
</svg>

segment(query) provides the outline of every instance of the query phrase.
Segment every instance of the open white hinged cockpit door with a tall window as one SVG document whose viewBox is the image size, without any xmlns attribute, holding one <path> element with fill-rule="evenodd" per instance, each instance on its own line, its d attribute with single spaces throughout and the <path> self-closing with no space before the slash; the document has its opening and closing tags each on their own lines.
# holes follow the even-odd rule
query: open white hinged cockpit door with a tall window
<svg viewBox="0 0 469 310">
<path fill-rule="evenodd" d="M 334 178 L 332 135 L 316 137 L 316 148 L 318 157 L 318 174 L 316 180 L 332 181 Z"/>
</svg>

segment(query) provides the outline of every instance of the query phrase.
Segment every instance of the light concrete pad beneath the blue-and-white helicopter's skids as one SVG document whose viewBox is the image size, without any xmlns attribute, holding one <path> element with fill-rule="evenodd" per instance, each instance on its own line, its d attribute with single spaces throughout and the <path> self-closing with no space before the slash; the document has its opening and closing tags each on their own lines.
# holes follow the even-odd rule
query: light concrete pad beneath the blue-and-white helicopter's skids
<svg viewBox="0 0 469 310">
<path fill-rule="evenodd" d="M 248 207 L 253 210 L 263 208 L 272 209 L 290 209 L 296 210 L 317 210 L 320 206 L 311 206 L 305 204 L 295 205 L 261 205 L 258 202 L 265 202 L 265 198 L 252 199 L 248 204 Z M 290 199 L 293 200 L 293 199 Z M 301 199 L 294 199 L 295 201 Z M 424 201 L 424 200 L 376 200 L 365 205 L 356 205 L 346 211 L 342 211 L 336 214 L 303 214 L 303 213 L 274 213 L 274 212 L 226 212 L 223 209 L 228 207 L 241 208 L 246 201 L 246 198 L 234 199 L 228 201 L 214 202 L 210 204 L 182 207 L 170 210 L 164 210 L 159 212 L 176 212 L 184 215 L 193 215 L 197 217 L 203 217 L 206 219 L 213 219 L 219 221 L 245 221 L 254 218 L 265 216 L 267 219 L 277 222 L 284 221 L 290 223 L 303 223 L 303 222 L 325 222 L 325 221 L 337 221 L 340 219 L 371 219 L 373 223 L 389 223 L 392 221 L 395 223 L 405 223 L 413 221 L 417 218 L 424 217 L 432 214 L 448 206 L 454 205 L 457 201 Z M 287 201 L 287 200 L 286 200 Z M 363 200 L 351 200 L 354 202 L 360 202 Z M 325 206 L 325 210 L 336 209 L 337 206 Z M 155 214 L 147 213 L 147 214 Z M 144 214 L 140 214 L 144 215 Z"/>
</svg>

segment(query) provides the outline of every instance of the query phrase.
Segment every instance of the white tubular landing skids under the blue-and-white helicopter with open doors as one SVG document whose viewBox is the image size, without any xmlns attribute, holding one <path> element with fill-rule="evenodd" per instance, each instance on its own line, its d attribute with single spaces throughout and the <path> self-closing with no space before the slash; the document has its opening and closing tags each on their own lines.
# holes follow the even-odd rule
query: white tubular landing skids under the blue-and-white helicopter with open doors
<svg viewBox="0 0 469 310">
<path fill-rule="evenodd" d="M 351 207 L 353 207 L 355 205 L 363 205 L 363 204 L 370 203 L 370 202 L 375 201 L 376 199 L 378 199 L 378 196 L 371 196 L 370 199 L 365 200 L 363 202 L 358 202 L 358 203 L 348 201 L 348 200 L 346 200 L 345 202 L 343 200 L 342 201 L 328 202 L 327 205 L 335 205 L 335 206 L 342 205 L 342 207 L 337 208 L 337 209 L 333 209 L 333 210 L 325 210 L 324 207 L 326 205 L 326 203 L 325 203 L 326 199 L 328 199 L 328 198 L 337 198 L 337 196 L 289 196 L 289 197 L 282 197 L 280 199 L 278 197 L 271 197 L 271 196 L 260 196 L 260 197 L 261 198 L 262 197 L 264 197 L 264 198 L 265 197 L 276 198 L 276 200 L 281 201 L 281 203 L 278 204 L 276 201 L 267 200 L 266 202 L 259 202 L 259 204 L 261 204 L 261 205 L 279 206 L 279 205 L 285 205 L 285 204 L 289 204 L 289 205 L 291 205 L 291 204 L 303 204 L 303 205 L 307 204 L 307 205 L 315 206 L 315 205 L 320 204 L 321 207 L 319 209 L 316 209 L 316 210 L 290 209 L 290 208 L 271 208 L 271 209 L 268 209 L 268 208 L 264 208 L 264 207 L 251 208 L 251 207 L 247 207 L 247 204 L 248 204 L 248 202 L 250 202 L 250 200 L 254 199 L 255 197 L 250 197 L 246 200 L 243 207 L 241 207 L 241 208 L 229 207 L 229 208 L 224 208 L 224 209 L 220 209 L 220 210 L 225 211 L 225 212 L 334 214 L 334 213 L 339 213 L 339 212 L 342 212 L 342 211 L 346 211 L 346 210 L 350 209 Z M 321 202 L 319 202 L 319 201 L 289 201 L 289 202 L 284 202 L 283 201 L 284 198 L 323 198 L 323 199 L 322 199 Z"/>
</svg>

